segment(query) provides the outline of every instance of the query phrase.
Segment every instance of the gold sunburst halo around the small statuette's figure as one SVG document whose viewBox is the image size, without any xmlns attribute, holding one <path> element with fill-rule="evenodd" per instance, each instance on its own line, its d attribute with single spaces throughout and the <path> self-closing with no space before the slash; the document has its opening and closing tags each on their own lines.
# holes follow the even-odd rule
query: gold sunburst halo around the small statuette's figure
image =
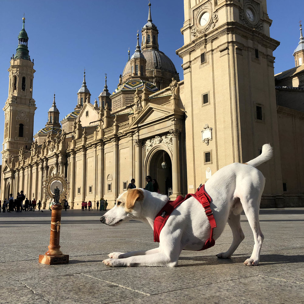
<svg viewBox="0 0 304 304">
<path fill-rule="evenodd" d="M 52 173 L 43 183 L 43 192 L 45 193 L 46 199 L 52 199 L 54 196 L 54 189 L 56 186 L 60 189 L 60 202 L 67 197 L 67 193 L 70 190 L 70 183 L 64 174 Z"/>
</svg>

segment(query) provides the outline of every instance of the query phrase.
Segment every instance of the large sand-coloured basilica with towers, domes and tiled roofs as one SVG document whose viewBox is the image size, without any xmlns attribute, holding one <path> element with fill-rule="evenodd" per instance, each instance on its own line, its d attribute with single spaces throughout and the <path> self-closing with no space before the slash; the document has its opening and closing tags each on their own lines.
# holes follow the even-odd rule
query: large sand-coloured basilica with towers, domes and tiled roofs
<svg viewBox="0 0 304 304">
<path fill-rule="evenodd" d="M 115 91 L 105 77 L 91 100 L 84 73 L 75 108 L 59 121 L 54 95 L 35 134 L 35 70 L 23 18 L 3 108 L 1 200 L 23 190 L 46 208 L 43 184 L 56 173 L 69 182 L 72 209 L 89 200 L 96 208 L 101 198 L 110 208 L 132 178 L 141 188 L 147 175 L 175 199 L 270 143 L 274 157 L 259 168 L 266 177 L 261 206 L 304 206 L 302 26 L 295 67 L 274 75 L 279 42 L 270 37 L 266 0 L 185 0 L 184 10 L 184 45 L 176 51 L 183 80 L 159 49 L 149 3 Z"/>
</svg>

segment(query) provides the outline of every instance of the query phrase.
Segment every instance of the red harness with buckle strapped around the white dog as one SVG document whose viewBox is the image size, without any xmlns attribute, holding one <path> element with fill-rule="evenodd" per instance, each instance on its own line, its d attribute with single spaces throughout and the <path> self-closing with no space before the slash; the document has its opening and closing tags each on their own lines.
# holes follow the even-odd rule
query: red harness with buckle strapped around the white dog
<svg viewBox="0 0 304 304">
<path fill-rule="evenodd" d="M 211 226 L 210 238 L 206 241 L 204 247 L 199 250 L 205 250 L 214 246 L 215 240 L 213 239 L 213 228 L 216 227 L 216 222 L 212 214 L 212 210 L 210 208 L 211 198 L 205 191 L 205 185 L 202 184 L 199 186 L 199 188 L 194 194 L 187 194 L 185 198 L 179 195 L 175 201 L 168 201 L 166 205 L 161 209 L 161 211 L 158 212 L 157 216 L 154 219 L 154 242 L 159 243 L 159 235 L 161 233 L 161 230 L 165 226 L 167 219 L 171 215 L 172 211 L 190 196 L 195 197 L 202 204 Z"/>
</svg>

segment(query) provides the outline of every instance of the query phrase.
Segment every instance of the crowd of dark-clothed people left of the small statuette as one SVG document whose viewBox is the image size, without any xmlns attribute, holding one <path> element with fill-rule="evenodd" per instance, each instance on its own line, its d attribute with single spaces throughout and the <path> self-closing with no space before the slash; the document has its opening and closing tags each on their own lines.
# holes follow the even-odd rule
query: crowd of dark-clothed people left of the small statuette
<svg viewBox="0 0 304 304">
<path fill-rule="evenodd" d="M 24 204 L 23 204 L 24 201 Z M 9 195 L 9 199 L 5 199 L 3 203 L 0 201 L 0 212 L 22 212 L 24 211 L 35 211 L 36 206 L 38 210 L 41 208 L 41 201 L 38 203 L 35 199 L 31 200 L 25 197 L 23 191 L 17 193 L 16 199 L 14 199 L 13 194 Z"/>
</svg>

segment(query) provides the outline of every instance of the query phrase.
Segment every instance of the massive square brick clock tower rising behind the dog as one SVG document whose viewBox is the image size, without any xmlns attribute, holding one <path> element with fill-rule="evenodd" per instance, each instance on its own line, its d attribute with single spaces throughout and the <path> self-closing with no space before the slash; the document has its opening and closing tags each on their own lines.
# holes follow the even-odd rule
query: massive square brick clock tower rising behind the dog
<svg viewBox="0 0 304 304">
<path fill-rule="evenodd" d="M 283 192 L 272 55 L 279 42 L 269 34 L 266 0 L 184 0 L 184 10 L 177 54 L 185 81 L 188 188 L 227 164 L 253 159 L 270 143 L 274 157 L 260 169 L 264 194 L 274 201 Z"/>
</svg>

